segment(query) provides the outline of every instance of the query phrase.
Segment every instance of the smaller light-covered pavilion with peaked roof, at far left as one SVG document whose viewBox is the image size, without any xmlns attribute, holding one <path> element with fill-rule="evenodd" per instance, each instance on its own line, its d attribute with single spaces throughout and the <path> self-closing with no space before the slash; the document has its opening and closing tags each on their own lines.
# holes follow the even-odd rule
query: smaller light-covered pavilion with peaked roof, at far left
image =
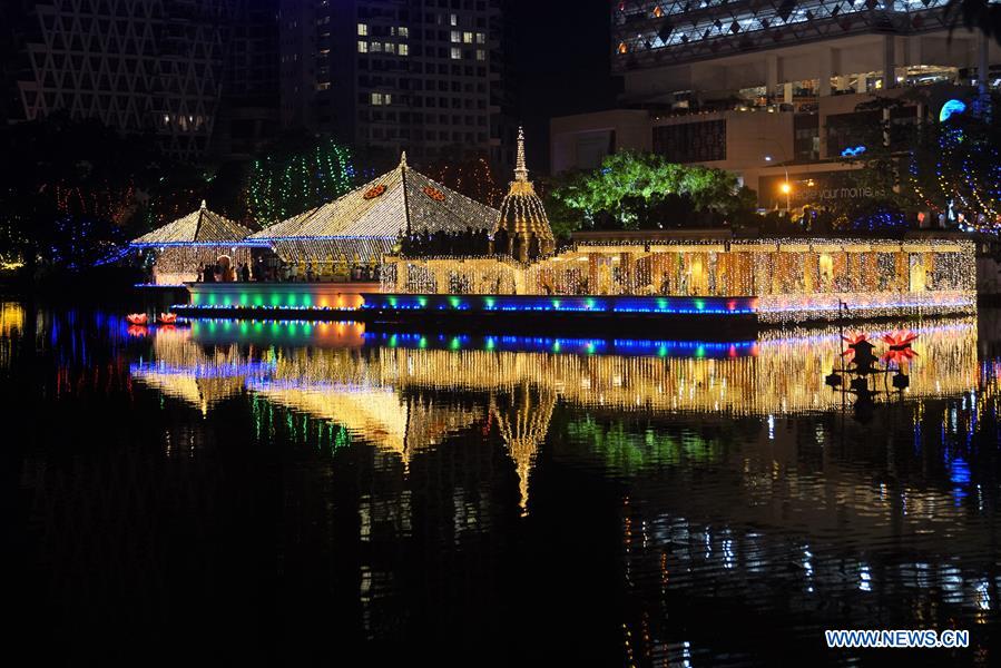
<svg viewBox="0 0 1001 668">
<path fill-rule="evenodd" d="M 251 263 L 251 248 L 265 246 L 247 239 L 251 230 L 225 216 L 212 212 L 205 200 L 196 212 L 148 232 L 129 245 L 155 254 L 153 283 L 181 285 L 198 279 L 205 264 L 215 264 L 220 255 L 232 266 Z"/>
</svg>

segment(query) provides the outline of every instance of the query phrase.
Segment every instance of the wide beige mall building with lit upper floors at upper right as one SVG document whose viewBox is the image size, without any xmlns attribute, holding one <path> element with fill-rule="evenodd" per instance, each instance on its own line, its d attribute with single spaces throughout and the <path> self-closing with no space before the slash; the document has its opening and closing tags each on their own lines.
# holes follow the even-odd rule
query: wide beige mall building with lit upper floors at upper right
<svg viewBox="0 0 1001 668">
<path fill-rule="evenodd" d="M 553 118 L 551 173 L 652 150 L 737 173 L 764 208 L 870 196 L 838 177 L 865 150 L 857 121 L 939 117 L 1001 82 L 1001 48 L 950 33 L 945 2 L 616 0 L 619 108 Z M 904 104 L 856 109 L 877 96 Z"/>
</svg>

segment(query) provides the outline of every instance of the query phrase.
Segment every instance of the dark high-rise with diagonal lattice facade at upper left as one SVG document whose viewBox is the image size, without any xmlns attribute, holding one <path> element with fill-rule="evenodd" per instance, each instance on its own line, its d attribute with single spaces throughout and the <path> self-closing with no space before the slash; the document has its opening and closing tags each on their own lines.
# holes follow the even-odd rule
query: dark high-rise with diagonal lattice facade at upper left
<svg viewBox="0 0 1001 668">
<path fill-rule="evenodd" d="M 258 90 L 258 82 L 267 85 L 267 77 L 259 77 L 269 67 L 266 61 L 277 58 L 276 11 L 273 7 L 268 14 L 268 0 L 14 4 L 8 30 L 20 45 L 20 67 L 11 120 L 66 111 L 125 132 L 153 131 L 168 154 L 192 159 L 209 150 L 224 91 L 233 92 L 230 109 L 258 94 L 269 95 L 276 107 L 276 73 L 271 92 Z M 269 52 L 262 48 L 268 30 Z M 234 45 L 254 50 L 254 68 L 241 68 Z M 232 90 L 229 75 L 237 82 Z M 247 84 L 243 88 L 241 77 Z"/>
</svg>

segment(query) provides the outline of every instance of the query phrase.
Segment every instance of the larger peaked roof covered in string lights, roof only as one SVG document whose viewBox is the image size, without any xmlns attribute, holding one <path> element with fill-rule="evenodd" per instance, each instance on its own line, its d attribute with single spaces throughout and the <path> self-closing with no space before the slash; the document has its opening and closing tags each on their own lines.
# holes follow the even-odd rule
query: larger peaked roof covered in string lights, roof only
<svg viewBox="0 0 1001 668">
<path fill-rule="evenodd" d="M 492 229 L 500 212 L 439 184 L 406 165 L 320 207 L 276 223 L 251 238 L 310 240 L 395 238 L 402 232 Z"/>
</svg>

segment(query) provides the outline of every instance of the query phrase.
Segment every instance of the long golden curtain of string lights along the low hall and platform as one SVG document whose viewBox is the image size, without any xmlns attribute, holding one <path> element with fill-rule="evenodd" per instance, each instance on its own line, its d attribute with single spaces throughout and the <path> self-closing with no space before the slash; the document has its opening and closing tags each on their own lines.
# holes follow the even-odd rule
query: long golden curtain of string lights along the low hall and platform
<svg viewBox="0 0 1001 668">
<path fill-rule="evenodd" d="M 966 240 L 762 239 L 578 243 L 536 263 L 387 256 L 384 292 L 403 294 L 756 297 L 764 322 L 942 315 L 975 310 Z"/>
</svg>

